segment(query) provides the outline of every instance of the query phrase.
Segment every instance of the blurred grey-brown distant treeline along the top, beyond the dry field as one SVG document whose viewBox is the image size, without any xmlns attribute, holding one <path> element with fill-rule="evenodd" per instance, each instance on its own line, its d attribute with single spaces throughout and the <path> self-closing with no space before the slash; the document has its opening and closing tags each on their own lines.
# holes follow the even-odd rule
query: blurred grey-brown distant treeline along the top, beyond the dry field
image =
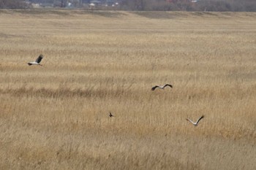
<svg viewBox="0 0 256 170">
<path fill-rule="evenodd" d="M 102 4 L 110 0 L 102 0 Z M 116 0 L 117 1 L 117 0 Z M 1 9 L 26 9 L 31 8 L 31 3 L 59 4 L 66 7 L 72 2 L 74 7 L 84 7 L 89 0 L 0 0 Z M 113 0 L 113 2 L 115 2 Z M 145 11 L 232 11 L 256 12 L 256 0 L 119 0 L 116 9 L 119 10 L 145 10 Z M 56 7 L 53 5 L 53 7 Z M 58 7 L 58 6 L 57 6 Z M 105 9 L 101 6 L 98 9 Z M 109 8 L 108 8 L 109 9 Z"/>
</svg>

